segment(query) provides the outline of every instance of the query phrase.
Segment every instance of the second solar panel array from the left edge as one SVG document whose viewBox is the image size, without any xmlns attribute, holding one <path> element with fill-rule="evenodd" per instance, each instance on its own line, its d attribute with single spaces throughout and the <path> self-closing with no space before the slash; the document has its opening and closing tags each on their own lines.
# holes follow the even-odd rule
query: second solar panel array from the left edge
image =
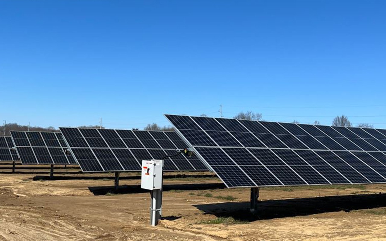
<svg viewBox="0 0 386 241">
<path fill-rule="evenodd" d="M 60 132 L 11 131 L 11 136 L 22 164 L 77 164 Z"/>
</svg>

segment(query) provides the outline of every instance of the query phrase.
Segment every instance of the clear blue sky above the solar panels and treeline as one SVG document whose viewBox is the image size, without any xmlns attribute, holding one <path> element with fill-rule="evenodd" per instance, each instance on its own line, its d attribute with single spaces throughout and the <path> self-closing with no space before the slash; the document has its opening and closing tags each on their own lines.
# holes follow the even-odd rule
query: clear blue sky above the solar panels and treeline
<svg viewBox="0 0 386 241">
<path fill-rule="evenodd" d="M 0 121 L 386 128 L 386 1 L 0 1 Z"/>
</svg>

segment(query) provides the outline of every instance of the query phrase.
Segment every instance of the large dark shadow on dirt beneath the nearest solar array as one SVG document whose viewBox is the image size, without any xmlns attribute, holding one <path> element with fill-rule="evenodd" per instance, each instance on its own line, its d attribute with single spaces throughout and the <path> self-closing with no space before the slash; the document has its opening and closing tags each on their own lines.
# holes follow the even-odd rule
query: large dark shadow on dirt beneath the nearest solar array
<svg viewBox="0 0 386 241">
<path fill-rule="evenodd" d="M 249 213 L 249 202 L 223 202 L 193 205 L 217 217 L 256 221 L 279 217 L 306 216 L 325 212 L 349 212 L 358 209 L 386 207 L 386 194 L 341 195 L 285 200 L 259 201 L 257 215 Z"/>
</svg>

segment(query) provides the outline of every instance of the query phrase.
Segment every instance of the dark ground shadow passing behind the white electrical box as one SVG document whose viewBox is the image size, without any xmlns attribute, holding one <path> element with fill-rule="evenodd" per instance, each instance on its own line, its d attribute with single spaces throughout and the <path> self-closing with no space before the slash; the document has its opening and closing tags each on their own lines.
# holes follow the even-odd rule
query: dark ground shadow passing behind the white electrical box
<svg viewBox="0 0 386 241">
<path fill-rule="evenodd" d="M 163 191 L 170 190 L 208 190 L 208 189 L 225 189 L 222 183 L 205 183 L 205 184 L 164 184 Z M 104 187 L 88 187 L 88 190 L 94 195 L 106 195 L 107 193 L 129 194 L 129 193 L 146 193 L 149 190 L 142 189 L 141 185 L 120 185 L 117 191 L 114 191 L 114 186 Z"/>
</svg>

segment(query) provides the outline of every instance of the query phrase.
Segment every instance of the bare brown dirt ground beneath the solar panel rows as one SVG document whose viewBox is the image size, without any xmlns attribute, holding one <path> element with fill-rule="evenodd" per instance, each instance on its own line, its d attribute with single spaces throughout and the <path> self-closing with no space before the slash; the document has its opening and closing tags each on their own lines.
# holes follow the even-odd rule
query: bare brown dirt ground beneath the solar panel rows
<svg viewBox="0 0 386 241">
<path fill-rule="evenodd" d="M 226 189 L 211 173 L 167 173 L 163 219 L 149 225 L 138 174 L 0 164 L 0 241 L 386 240 L 386 184 Z M 235 199 L 235 200 L 232 200 Z M 225 220 L 225 221 L 224 221 Z"/>
</svg>

